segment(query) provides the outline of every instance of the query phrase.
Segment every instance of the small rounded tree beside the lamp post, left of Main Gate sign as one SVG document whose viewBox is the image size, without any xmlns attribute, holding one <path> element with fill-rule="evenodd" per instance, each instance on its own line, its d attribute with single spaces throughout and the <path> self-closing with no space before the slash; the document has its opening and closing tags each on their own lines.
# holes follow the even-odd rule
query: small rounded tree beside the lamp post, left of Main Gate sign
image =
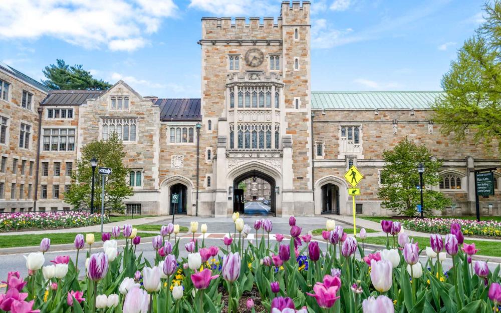
<svg viewBox="0 0 501 313">
<path fill-rule="evenodd" d="M 417 165 L 420 162 L 424 164 L 424 214 L 430 214 L 432 209 L 443 210 L 450 204 L 450 199 L 442 193 L 427 188 L 438 184 L 438 170 L 442 162 L 433 160 L 424 145 L 417 146 L 406 137 L 393 150 L 384 151 L 383 157 L 385 168 L 381 172 L 382 187 L 378 191 L 378 196 L 384 200 L 383 206 L 406 216 L 417 214 L 416 206 L 421 202 L 420 190 L 417 188 Z"/>
</svg>

